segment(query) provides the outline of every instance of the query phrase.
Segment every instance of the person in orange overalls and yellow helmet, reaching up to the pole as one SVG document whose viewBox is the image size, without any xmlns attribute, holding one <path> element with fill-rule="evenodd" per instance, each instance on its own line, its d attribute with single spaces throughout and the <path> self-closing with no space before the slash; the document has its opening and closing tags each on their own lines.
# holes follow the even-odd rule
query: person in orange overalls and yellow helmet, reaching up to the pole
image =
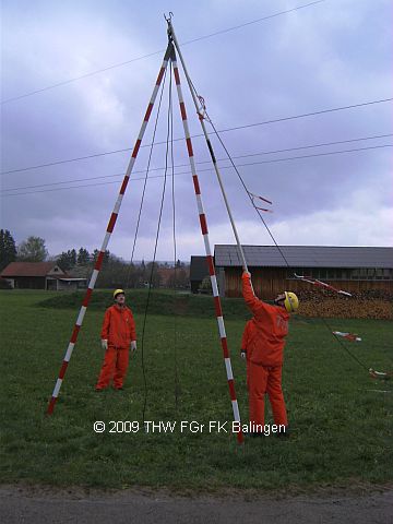
<svg viewBox="0 0 393 524">
<path fill-rule="evenodd" d="M 247 359 L 247 385 L 249 390 L 249 415 L 253 436 L 263 434 L 264 396 L 267 393 L 274 422 L 285 426 L 288 418 L 282 389 L 283 353 L 288 334 L 289 312 L 299 306 L 294 293 L 285 291 L 274 300 L 275 306 L 255 297 L 251 275 L 242 274 L 242 295 L 253 318 L 247 322 L 241 341 L 241 357 Z M 257 426 L 258 425 L 258 426 Z"/>
</svg>

